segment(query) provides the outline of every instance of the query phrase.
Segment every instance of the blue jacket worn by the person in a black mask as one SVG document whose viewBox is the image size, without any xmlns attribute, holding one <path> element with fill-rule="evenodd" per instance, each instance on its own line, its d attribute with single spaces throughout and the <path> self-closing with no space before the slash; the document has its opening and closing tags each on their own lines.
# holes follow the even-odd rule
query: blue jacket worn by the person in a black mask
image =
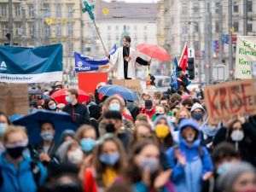
<svg viewBox="0 0 256 192">
<path fill-rule="evenodd" d="M 5 158 L 5 153 L 0 156 L 0 173 L 3 183 L 0 185 L 0 192 L 36 192 L 37 183 L 34 180 L 31 167 L 32 160 L 28 157 L 20 162 L 18 168 L 9 163 Z M 37 164 L 40 170 L 39 185 L 44 184 L 47 171 L 41 163 Z"/>
</svg>

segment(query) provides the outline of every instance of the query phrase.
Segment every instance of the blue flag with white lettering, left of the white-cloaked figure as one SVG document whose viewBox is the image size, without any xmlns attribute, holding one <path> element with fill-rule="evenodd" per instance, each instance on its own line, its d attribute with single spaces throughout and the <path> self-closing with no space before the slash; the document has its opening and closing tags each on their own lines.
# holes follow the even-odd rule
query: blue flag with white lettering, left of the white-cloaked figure
<svg viewBox="0 0 256 192">
<path fill-rule="evenodd" d="M 74 53 L 75 58 L 75 72 L 90 72 L 99 69 L 99 66 L 108 64 L 108 58 L 96 60 L 88 56 Z"/>
</svg>

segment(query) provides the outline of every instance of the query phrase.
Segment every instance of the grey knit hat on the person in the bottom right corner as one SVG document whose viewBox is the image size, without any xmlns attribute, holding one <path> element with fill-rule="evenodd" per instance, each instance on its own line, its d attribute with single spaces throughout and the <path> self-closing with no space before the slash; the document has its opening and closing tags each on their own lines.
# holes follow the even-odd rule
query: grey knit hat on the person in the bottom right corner
<svg viewBox="0 0 256 192">
<path fill-rule="evenodd" d="M 230 163 L 228 171 L 218 177 L 217 184 L 219 191 L 231 191 L 236 179 L 246 172 L 256 174 L 254 167 L 249 163 Z"/>
</svg>

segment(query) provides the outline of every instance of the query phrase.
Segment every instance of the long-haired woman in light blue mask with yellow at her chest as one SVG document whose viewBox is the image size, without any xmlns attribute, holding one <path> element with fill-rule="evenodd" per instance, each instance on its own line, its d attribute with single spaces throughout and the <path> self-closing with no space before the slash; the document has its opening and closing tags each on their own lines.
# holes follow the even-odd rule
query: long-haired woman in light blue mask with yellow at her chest
<svg viewBox="0 0 256 192">
<path fill-rule="evenodd" d="M 126 167 L 125 151 L 113 136 L 102 137 L 97 146 L 93 166 L 84 170 L 84 192 L 102 191 L 122 176 Z"/>
</svg>

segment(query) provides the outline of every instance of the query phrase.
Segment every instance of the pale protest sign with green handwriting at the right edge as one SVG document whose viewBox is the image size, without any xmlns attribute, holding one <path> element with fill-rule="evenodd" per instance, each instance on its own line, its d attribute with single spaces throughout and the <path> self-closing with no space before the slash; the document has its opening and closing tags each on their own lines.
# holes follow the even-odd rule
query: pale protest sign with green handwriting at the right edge
<svg viewBox="0 0 256 192">
<path fill-rule="evenodd" d="M 236 79 L 252 79 L 252 66 L 256 61 L 256 37 L 238 36 L 236 43 Z"/>
</svg>

